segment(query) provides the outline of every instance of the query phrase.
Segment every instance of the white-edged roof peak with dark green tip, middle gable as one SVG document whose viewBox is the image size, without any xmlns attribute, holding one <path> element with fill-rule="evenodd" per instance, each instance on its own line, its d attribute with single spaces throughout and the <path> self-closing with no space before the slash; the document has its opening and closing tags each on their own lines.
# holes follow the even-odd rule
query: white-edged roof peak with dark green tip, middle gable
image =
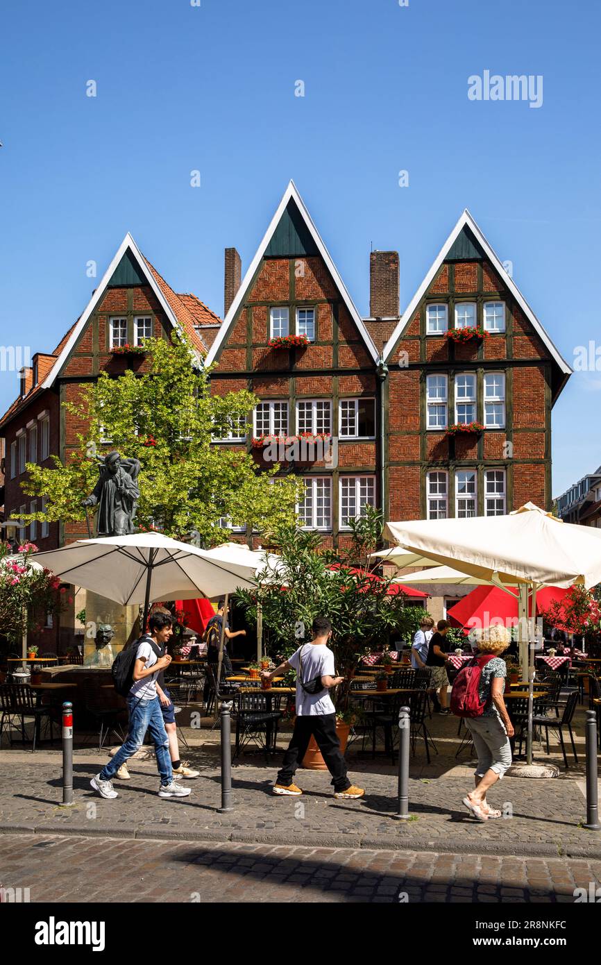
<svg viewBox="0 0 601 965">
<path fill-rule="evenodd" d="M 289 202 L 291 202 L 292 204 L 288 208 Z M 230 310 L 227 316 L 224 318 L 223 324 L 217 335 L 217 338 L 215 339 L 215 341 L 213 342 L 213 344 L 211 345 L 208 351 L 208 355 L 206 356 L 207 365 L 209 365 L 211 362 L 214 362 L 219 349 L 228 338 L 229 330 L 232 327 L 233 319 L 235 318 L 236 313 L 240 305 L 242 304 L 244 297 L 251 285 L 251 282 L 255 277 L 255 272 L 259 267 L 260 260 L 263 258 L 264 255 L 277 256 L 283 246 L 287 246 L 287 250 L 289 250 L 290 244 L 294 244 L 298 247 L 299 254 L 309 253 L 309 251 L 311 250 L 315 254 L 321 256 L 321 258 L 325 262 L 325 265 L 328 271 L 330 272 L 330 274 L 332 275 L 332 278 L 334 279 L 334 284 L 341 292 L 341 296 L 344 301 L 344 304 L 346 305 L 346 308 L 348 309 L 350 317 L 355 322 L 357 329 L 359 330 L 365 342 L 365 345 L 369 351 L 369 355 L 371 356 L 374 362 L 377 362 L 378 353 L 376 351 L 375 345 L 373 345 L 373 342 L 369 337 L 369 332 L 364 323 L 364 320 L 359 315 L 359 312 L 355 308 L 353 300 L 350 297 L 350 294 L 348 293 L 348 291 L 346 290 L 346 286 L 344 285 L 341 279 L 341 276 L 338 272 L 336 265 L 332 261 L 332 257 L 328 252 L 328 249 L 326 248 L 325 244 L 321 239 L 321 236 L 319 235 L 317 229 L 314 226 L 312 217 L 309 211 L 307 210 L 307 208 L 305 207 L 303 199 L 298 193 L 296 189 L 296 185 L 294 184 L 294 181 L 289 181 L 287 185 L 287 189 L 284 192 L 284 195 L 282 197 L 282 201 L 278 205 L 278 208 L 273 218 L 271 219 L 269 227 L 265 232 L 265 234 L 263 235 L 263 238 L 260 242 L 260 246 L 257 249 L 257 252 L 255 253 L 255 257 L 253 258 L 253 261 L 250 263 L 248 267 L 248 271 L 246 272 L 242 280 L 242 284 L 240 285 L 240 288 L 237 290 L 235 294 L 235 297 L 232 301 L 232 305 L 230 306 Z"/>
</svg>

